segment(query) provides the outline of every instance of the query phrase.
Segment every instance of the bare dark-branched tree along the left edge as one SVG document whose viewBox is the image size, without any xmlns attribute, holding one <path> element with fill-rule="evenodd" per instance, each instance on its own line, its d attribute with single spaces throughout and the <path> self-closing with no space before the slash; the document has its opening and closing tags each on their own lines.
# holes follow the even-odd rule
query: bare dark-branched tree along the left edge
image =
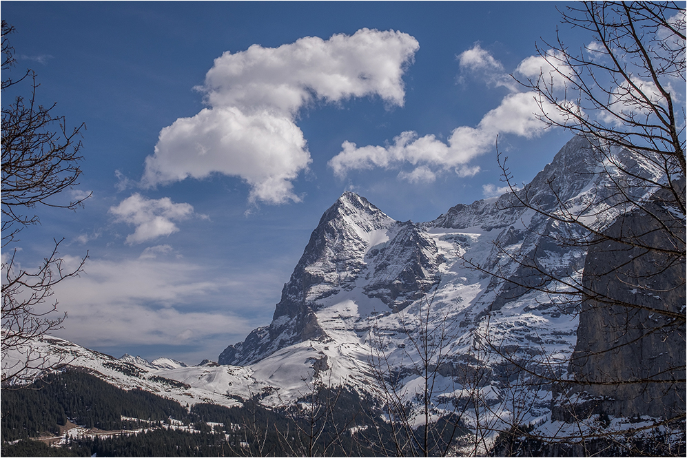
<svg viewBox="0 0 687 458">
<path fill-rule="evenodd" d="M 66 314 L 56 314 L 53 287 L 78 275 L 86 258 L 74 268 L 66 268 L 59 254 L 62 240 L 37 269 L 26 269 L 18 259 L 19 233 L 37 225 L 38 206 L 74 210 L 84 198 L 63 202 L 56 196 L 78 185 L 81 175 L 81 136 L 83 124 L 68 130 L 64 116 L 55 116 L 55 105 L 46 108 L 36 101 L 39 84 L 32 70 L 12 79 L 16 64 L 9 35 L 12 25 L 2 21 L 2 92 L 18 89 L 29 82 L 30 96 L 16 96 L 2 108 L 2 382 L 21 384 L 60 362 L 48 362 L 25 346 L 30 340 L 59 328 Z M 6 78 L 4 78 L 6 75 Z M 8 254 L 9 253 L 9 254 Z M 23 349 L 22 349 L 23 348 Z M 21 352 L 20 352 L 21 350 Z M 14 355 L 8 357 L 8 352 Z M 17 360 L 17 357 L 19 359 Z"/>
</svg>

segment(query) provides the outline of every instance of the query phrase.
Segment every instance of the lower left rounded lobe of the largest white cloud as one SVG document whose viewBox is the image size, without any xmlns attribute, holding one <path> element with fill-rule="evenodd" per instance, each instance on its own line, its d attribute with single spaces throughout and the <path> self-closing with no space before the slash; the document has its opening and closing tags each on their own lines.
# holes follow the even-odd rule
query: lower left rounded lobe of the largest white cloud
<svg viewBox="0 0 687 458">
<path fill-rule="evenodd" d="M 212 173 L 240 176 L 251 186 L 251 200 L 279 204 L 298 201 L 291 180 L 310 161 L 303 132 L 290 118 L 206 108 L 162 129 L 154 156 L 145 160 L 144 180 L 163 184 Z"/>
</svg>

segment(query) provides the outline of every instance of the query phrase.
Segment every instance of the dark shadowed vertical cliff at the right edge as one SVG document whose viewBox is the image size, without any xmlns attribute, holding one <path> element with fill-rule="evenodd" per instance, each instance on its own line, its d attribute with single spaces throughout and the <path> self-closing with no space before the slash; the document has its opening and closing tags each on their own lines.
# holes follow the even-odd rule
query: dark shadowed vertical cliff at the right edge
<svg viewBox="0 0 687 458">
<path fill-rule="evenodd" d="M 659 195 L 647 211 L 619 218 L 606 233 L 637 237 L 665 252 L 613 240 L 588 251 L 583 284 L 597 297 L 582 303 L 571 358 L 579 383 L 568 395 L 586 399 L 574 409 L 577 415 L 684 415 L 685 259 L 670 252 L 680 244 L 684 249 L 685 227 L 661 202 Z M 560 406 L 553 413 L 571 417 Z"/>
</svg>

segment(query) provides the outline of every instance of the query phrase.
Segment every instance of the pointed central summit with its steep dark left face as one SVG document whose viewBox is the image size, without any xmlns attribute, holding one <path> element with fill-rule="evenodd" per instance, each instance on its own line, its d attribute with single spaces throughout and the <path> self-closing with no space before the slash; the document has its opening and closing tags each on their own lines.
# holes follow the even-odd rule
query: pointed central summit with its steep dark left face
<svg viewBox="0 0 687 458">
<path fill-rule="evenodd" d="M 310 236 L 291 279 L 284 285 L 269 326 L 229 346 L 221 364 L 249 364 L 280 348 L 311 339 L 325 339 L 316 311 L 322 300 L 352 291 L 368 271 L 366 256 L 396 236 L 401 225 L 353 192 L 329 207 Z"/>
</svg>

